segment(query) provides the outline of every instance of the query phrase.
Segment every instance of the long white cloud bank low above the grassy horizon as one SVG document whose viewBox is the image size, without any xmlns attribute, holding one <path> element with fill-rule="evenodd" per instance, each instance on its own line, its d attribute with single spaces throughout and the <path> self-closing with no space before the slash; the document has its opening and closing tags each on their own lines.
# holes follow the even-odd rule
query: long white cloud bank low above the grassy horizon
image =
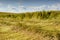
<svg viewBox="0 0 60 40">
<path fill-rule="evenodd" d="M 42 10 L 60 10 L 60 3 L 52 5 L 40 5 L 40 6 L 24 6 L 24 5 L 6 5 L 0 3 L 0 12 L 33 12 Z"/>
</svg>

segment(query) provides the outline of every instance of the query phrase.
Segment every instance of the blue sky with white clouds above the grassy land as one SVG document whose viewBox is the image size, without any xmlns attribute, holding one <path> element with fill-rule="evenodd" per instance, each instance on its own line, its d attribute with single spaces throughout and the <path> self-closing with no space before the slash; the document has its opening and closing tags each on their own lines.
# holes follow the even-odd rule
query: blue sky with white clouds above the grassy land
<svg viewBox="0 0 60 40">
<path fill-rule="evenodd" d="M 60 10 L 60 0 L 0 0 L 0 12 Z"/>
</svg>

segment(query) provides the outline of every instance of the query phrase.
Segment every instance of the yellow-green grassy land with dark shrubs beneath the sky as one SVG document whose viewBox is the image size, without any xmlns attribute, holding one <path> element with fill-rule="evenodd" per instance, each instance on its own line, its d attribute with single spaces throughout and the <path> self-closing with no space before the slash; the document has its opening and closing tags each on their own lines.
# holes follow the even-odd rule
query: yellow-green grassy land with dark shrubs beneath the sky
<svg viewBox="0 0 60 40">
<path fill-rule="evenodd" d="M 0 12 L 0 40 L 60 40 L 60 11 Z"/>
</svg>

